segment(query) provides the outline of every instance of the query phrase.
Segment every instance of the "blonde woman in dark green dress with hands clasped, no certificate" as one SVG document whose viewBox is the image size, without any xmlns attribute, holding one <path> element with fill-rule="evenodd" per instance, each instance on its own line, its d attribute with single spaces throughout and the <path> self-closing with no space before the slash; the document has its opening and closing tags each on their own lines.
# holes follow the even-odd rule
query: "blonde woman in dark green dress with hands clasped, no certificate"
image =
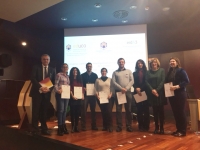
<svg viewBox="0 0 200 150">
<path fill-rule="evenodd" d="M 150 70 L 146 73 L 145 81 L 147 97 L 150 105 L 153 107 L 154 134 L 164 134 L 164 105 L 167 104 L 164 96 L 165 70 L 160 68 L 160 62 L 157 58 L 151 59 L 149 67 Z M 160 127 L 158 122 L 160 122 Z"/>
</svg>

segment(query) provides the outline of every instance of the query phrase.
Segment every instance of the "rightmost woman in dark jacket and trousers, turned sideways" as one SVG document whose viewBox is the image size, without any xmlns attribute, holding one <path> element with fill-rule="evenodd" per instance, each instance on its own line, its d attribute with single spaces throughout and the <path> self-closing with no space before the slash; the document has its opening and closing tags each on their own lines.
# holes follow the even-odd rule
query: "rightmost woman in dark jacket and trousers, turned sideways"
<svg viewBox="0 0 200 150">
<path fill-rule="evenodd" d="M 170 87 L 174 91 L 174 96 L 169 97 L 169 102 L 176 121 L 177 131 L 173 132 L 173 136 L 181 137 L 186 135 L 187 120 L 185 114 L 186 104 L 186 85 L 189 83 L 188 75 L 181 68 L 180 60 L 176 57 L 169 60 L 169 71 L 167 73 L 166 82 L 172 82 Z"/>
</svg>

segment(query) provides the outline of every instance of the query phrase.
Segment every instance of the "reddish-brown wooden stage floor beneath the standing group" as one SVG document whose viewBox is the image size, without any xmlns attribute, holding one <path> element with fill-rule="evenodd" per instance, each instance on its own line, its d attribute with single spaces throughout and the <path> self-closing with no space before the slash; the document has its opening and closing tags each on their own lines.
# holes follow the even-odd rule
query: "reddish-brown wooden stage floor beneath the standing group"
<svg viewBox="0 0 200 150">
<path fill-rule="evenodd" d="M 200 135 L 196 135 L 190 131 L 188 126 L 186 137 L 173 137 L 172 132 L 175 131 L 175 124 L 172 119 L 165 121 L 164 135 L 155 135 L 153 119 L 151 119 L 149 132 L 139 132 L 137 121 L 133 120 L 133 132 L 126 132 L 125 127 L 122 132 L 115 131 L 115 114 L 113 114 L 114 130 L 112 133 L 101 131 L 101 115 L 97 113 L 98 131 L 92 131 L 90 127 L 90 115 L 88 116 L 87 131 L 80 133 L 70 133 L 64 136 L 57 136 L 57 125 L 55 120 L 48 122 L 48 127 L 51 130 L 51 136 L 45 136 L 57 141 L 71 143 L 77 146 L 95 150 L 198 150 L 200 149 Z M 67 117 L 69 119 L 69 117 Z M 125 123 L 125 121 L 123 121 Z M 71 124 L 67 124 L 68 129 L 71 129 Z M 79 127 L 80 128 L 80 127 Z"/>
</svg>

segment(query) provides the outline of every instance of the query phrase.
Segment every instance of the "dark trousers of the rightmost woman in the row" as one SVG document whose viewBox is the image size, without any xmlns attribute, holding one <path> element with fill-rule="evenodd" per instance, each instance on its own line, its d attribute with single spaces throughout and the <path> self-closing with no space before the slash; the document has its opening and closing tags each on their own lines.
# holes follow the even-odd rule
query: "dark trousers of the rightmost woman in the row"
<svg viewBox="0 0 200 150">
<path fill-rule="evenodd" d="M 185 113 L 186 92 L 175 92 L 175 96 L 169 98 L 169 102 L 176 121 L 176 128 L 178 132 L 186 133 L 187 117 Z"/>
</svg>

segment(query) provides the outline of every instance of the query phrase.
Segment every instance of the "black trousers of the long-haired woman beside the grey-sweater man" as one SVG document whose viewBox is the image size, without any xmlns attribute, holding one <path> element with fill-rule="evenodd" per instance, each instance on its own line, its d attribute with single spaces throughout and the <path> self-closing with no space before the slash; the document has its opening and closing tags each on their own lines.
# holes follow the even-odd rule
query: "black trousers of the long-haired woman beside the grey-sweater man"
<svg viewBox="0 0 200 150">
<path fill-rule="evenodd" d="M 149 130 L 149 124 L 150 124 L 149 106 L 148 104 L 144 103 L 145 102 L 136 103 L 138 128 Z"/>
</svg>

